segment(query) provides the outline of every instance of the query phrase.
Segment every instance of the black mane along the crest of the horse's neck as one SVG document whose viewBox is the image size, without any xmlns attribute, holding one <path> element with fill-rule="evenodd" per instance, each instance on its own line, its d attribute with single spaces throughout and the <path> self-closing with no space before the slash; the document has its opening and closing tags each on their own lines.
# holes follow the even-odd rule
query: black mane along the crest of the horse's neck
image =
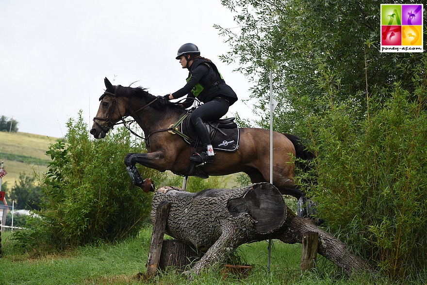
<svg viewBox="0 0 427 285">
<path fill-rule="evenodd" d="M 139 87 L 124 87 L 121 85 L 117 85 L 117 86 L 115 86 L 115 95 L 117 97 L 124 96 L 124 97 L 131 98 L 133 96 L 136 96 L 136 97 L 144 98 L 146 103 L 149 103 L 156 98 L 156 96 L 148 93 L 147 88 L 143 88 L 141 86 L 139 86 Z M 166 109 L 167 110 L 181 110 L 182 111 L 182 108 L 179 105 L 171 103 L 171 102 L 167 101 L 166 99 L 164 99 L 163 97 L 156 100 L 155 102 L 153 102 L 150 105 L 150 107 L 153 107 L 156 110 L 163 110 L 163 111 L 165 111 Z"/>
</svg>

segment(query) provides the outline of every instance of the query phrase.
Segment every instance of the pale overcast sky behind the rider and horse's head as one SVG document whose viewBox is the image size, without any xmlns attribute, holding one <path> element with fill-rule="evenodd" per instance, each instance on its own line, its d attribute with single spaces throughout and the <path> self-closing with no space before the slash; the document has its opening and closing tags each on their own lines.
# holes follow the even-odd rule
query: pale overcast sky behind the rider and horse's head
<svg viewBox="0 0 427 285">
<path fill-rule="evenodd" d="M 214 24 L 237 28 L 220 0 L 1 0 L 0 116 L 20 132 L 63 137 L 82 110 L 91 127 L 105 77 L 152 95 L 183 87 L 188 71 L 175 57 L 191 42 L 239 96 L 227 116 L 251 117 L 241 102 L 250 83 L 220 62 L 230 47 Z"/>
</svg>

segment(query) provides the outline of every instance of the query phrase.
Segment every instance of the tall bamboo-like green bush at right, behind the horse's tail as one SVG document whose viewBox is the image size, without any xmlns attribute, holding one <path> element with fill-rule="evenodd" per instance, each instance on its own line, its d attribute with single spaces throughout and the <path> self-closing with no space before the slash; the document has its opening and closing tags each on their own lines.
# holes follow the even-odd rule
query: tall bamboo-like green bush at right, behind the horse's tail
<svg viewBox="0 0 427 285">
<path fill-rule="evenodd" d="M 425 56 L 412 91 L 395 83 L 385 104 L 367 98 L 364 113 L 351 100 L 335 104 L 339 87 L 325 80 L 328 108 L 308 118 L 310 147 L 318 153 L 312 163 L 317 184 L 308 192 L 319 217 L 397 278 L 416 276 L 427 264 L 426 67 Z"/>
</svg>

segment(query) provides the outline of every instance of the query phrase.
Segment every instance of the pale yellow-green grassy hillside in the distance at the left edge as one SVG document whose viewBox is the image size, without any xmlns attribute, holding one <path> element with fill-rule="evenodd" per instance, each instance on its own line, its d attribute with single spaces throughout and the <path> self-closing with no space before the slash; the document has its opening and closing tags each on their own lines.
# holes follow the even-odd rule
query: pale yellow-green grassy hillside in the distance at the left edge
<svg viewBox="0 0 427 285">
<path fill-rule="evenodd" d="M 3 177 L 3 185 L 7 183 L 11 189 L 19 174 L 32 175 L 36 172 L 46 172 L 50 158 L 46 156 L 49 144 L 56 143 L 57 138 L 28 133 L 0 132 L 0 163 L 4 160 L 7 174 Z"/>
</svg>

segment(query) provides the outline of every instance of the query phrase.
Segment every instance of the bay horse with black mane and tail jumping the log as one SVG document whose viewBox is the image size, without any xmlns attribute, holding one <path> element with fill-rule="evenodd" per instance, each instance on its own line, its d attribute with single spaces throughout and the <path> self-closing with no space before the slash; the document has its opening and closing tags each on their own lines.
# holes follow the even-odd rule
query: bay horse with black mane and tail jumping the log
<svg viewBox="0 0 427 285">
<path fill-rule="evenodd" d="M 105 78 L 106 91 L 99 98 L 99 110 L 90 133 L 104 138 L 109 129 L 133 117 L 144 131 L 147 153 L 130 153 L 125 158 L 128 167 L 140 163 L 148 168 L 176 174 L 185 173 L 195 151 L 184 140 L 167 129 L 187 112 L 182 106 L 158 98 L 141 87 L 113 86 Z M 163 100 L 162 100 L 163 99 Z M 240 128 L 240 146 L 235 152 L 215 153 L 213 163 L 200 166 L 208 175 L 227 175 L 244 172 L 252 183 L 270 179 L 270 131 L 262 128 Z M 299 199 L 304 193 L 295 185 L 294 159 L 314 158 L 293 135 L 273 133 L 273 184 L 280 193 Z"/>
</svg>

